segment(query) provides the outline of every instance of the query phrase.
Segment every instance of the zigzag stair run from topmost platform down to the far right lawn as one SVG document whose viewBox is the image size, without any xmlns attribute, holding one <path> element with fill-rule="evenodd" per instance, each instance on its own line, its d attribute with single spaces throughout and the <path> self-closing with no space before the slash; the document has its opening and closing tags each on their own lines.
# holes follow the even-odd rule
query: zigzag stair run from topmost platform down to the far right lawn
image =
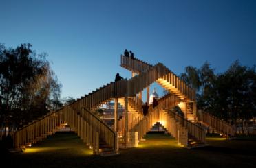
<svg viewBox="0 0 256 168">
<path fill-rule="evenodd" d="M 164 67 L 164 65 L 160 63 L 157 65 L 158 68 L 167 72 L 165 72 L 162 77 L 158 78 L 156 82 L 169 91 L 171 95 L 177 95 L 181 100 L 181 104 L 182 102 L 185 103 L 184 106 L 180 106 L 180 104 L 178 104 L 178 106 L 180 106 L 184 112 L 186 119 L 192 121 L 193 123 L 198 122 L 226 136 L 234 136 L 235 131 L 230 123 L 218 119 L 208 112 L 197 110 L 196 106 L 191 106 L 191 104 L 195 105 L 195 90 L 193 88 L 190 88 L 184 84 L 184 82 L 180 80 L 177 75 L 167 69 L 167 67 Z M 131 59 L 126 56 L 121 56 L 121 67 L 124 67 L 125 69 L 128 69 L 134 73 L 145 73 L 157 65 L 153 66 L 147 62 L 138 60 L 137 58 Z"/>
</svg>

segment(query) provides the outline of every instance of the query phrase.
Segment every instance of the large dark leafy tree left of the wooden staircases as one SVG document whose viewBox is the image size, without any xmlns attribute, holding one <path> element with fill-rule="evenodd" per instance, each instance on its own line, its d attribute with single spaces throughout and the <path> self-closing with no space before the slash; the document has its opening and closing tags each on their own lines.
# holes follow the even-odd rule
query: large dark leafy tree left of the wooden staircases
<svg viewBox="0 0 256 168">
<path fill-rule="evenodd" d="M 17 128 L 53 110 L 61 84 L 45 60 L 32 45 L 16 49 L 0 45 L 0 121 L 1 127 Z"/>
</svg>

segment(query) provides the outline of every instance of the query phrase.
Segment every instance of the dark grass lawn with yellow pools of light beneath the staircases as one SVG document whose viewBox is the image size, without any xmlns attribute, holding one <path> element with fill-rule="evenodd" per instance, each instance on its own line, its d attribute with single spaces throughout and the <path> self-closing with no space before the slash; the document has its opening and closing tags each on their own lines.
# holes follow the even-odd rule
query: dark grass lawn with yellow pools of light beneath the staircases
<svg viewBox="0 0 256 168">
<path fill-rule="evenodd" d="M 256 167 L 256 141 L 209 137 L 209 146 L 184 149 L 164 134 L 148 134 L 120 155 L 92 154 L 76 134 L 55 134 L 23 153 L 1 158 L 12 167 Z"/>
</svg>

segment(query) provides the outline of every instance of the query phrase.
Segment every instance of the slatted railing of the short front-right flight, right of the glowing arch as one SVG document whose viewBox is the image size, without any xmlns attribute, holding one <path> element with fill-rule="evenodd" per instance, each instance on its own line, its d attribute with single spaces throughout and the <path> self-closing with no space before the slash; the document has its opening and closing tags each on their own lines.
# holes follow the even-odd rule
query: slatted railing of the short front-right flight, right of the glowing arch
<svg viewBox="0 0 256 168">
<path fill-rule="evenodd" d="M 204 129 L 201 128 L 199 125 L 196 125 L 195 123 L 192 123 L 191 121 L 185 119 L 181 115 L 178 115 L 177 113 L 167 110 L 170 117 L 173 117 L 175 121 L 180 123 L 184 128 L 188 130 L 188 133 L 195 137 L 196 139 L 200 140 L 202 143 L 205 143 L 205 132 Z"/>
</svg>

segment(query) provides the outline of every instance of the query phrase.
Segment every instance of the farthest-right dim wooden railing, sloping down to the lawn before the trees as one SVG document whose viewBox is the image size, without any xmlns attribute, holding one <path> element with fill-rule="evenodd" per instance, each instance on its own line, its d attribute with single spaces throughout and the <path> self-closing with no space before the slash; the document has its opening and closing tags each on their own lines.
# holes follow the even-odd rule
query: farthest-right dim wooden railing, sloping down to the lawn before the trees
<svg viewBox="0 0 256 168">
<path fill-rule="evenodd" d="M 212 128 L 213 130 L 216 130 L 217 132 L 220 132 L 221 134 L 224 134 L 227 136 L 235 135 L 235 129 L 233 125 L 209 114 L 208 112 L 198 110 L 197 117 L 198 117 L 198 121 L 202 123 L 202 125 L 206 125 Z"/>
</svg>

